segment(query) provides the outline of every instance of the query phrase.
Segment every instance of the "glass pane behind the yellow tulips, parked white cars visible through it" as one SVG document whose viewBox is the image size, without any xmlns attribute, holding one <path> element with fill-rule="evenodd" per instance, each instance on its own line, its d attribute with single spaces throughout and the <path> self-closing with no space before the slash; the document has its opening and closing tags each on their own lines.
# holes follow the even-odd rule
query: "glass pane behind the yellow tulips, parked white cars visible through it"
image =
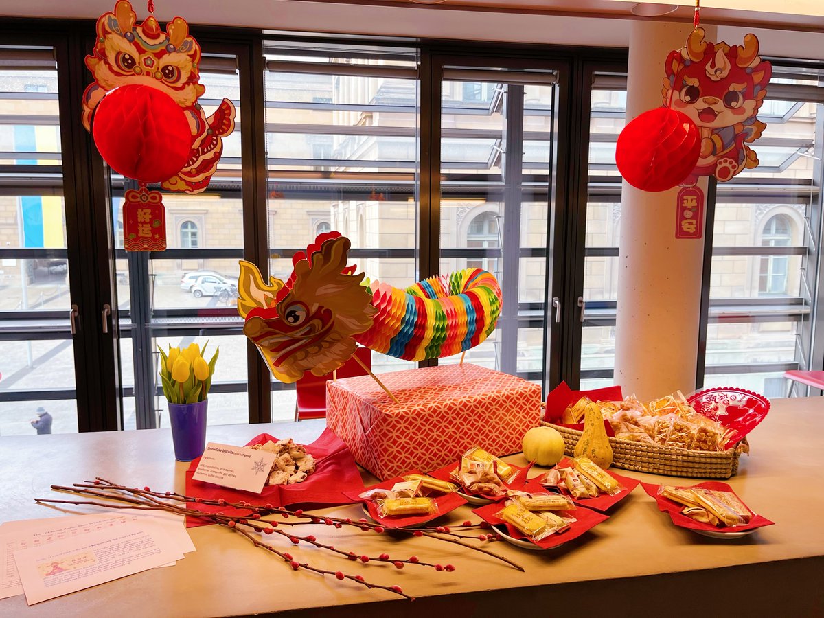
<svg viewBox="0 0 824 618">
<path fill-rule="evenodd" d="M 209 394 L 209 424 L 246 423 L 246 337 L 236 312 L 238 260 L 243 258 L 240 78 L 235 59 L 204 54 L 199 99 L 207 115 L 225 97 L 236 129 L 223 140 L 218 170 L 200 194 L 164 192 L 167 249 L 117 251 L 117 289 L 124 372 L 124 427 L 168 427 L 157 372 L 157 346 L 220 348 Z M 131 180 L 113 176 L 115 235 L 122 236 L 122 196 Z M 123 246 L 115 236 L 116 246 Z M 130 337 L 130 339 L 129 339 Z M 128 345 L 124 343 L 128 342 Z M 138 366 L 138 371 L 133 371 Z M 132 399 L 132 396 L 134 398 Z"/>
</svg>

